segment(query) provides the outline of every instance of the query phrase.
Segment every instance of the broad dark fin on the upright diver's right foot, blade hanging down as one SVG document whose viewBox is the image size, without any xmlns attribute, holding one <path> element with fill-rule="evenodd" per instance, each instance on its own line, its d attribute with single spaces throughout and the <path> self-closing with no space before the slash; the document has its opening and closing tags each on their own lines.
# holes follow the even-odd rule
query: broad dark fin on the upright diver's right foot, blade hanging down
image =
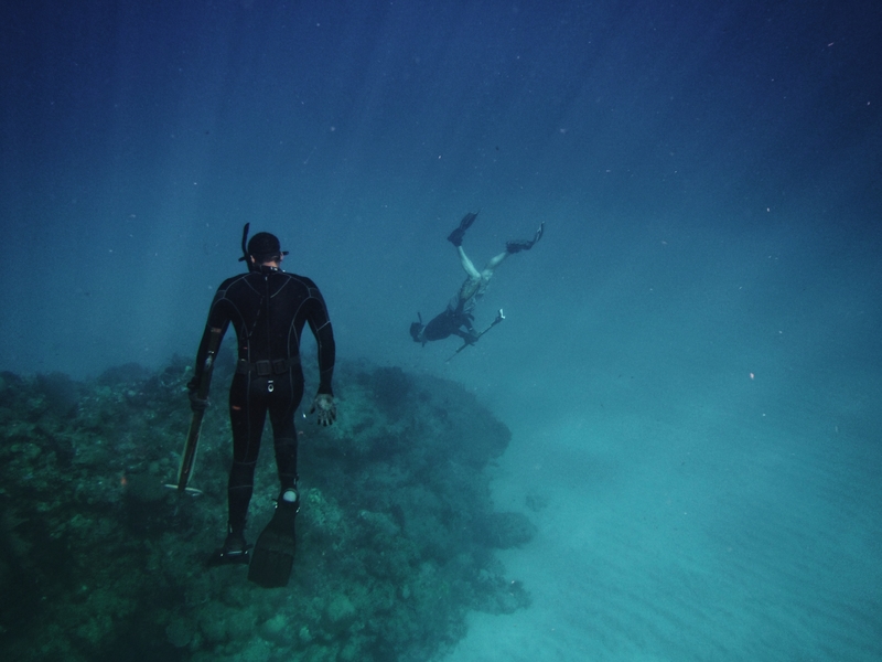
<svg viewBox="0 0 882 662">
<path fill-rule="evenodd" d="M 279 499 L 276 512 L 251 549 L 248 579 L 263 588 L 288 586 L 294 565 L 294 519 L 299 500 Z"/>
</svg>

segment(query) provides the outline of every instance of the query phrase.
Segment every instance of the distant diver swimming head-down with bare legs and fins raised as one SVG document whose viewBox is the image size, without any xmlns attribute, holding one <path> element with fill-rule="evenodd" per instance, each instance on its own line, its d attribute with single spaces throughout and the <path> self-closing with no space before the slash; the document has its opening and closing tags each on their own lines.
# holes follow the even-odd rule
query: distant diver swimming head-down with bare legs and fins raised
<svg viewBox="0 0 882 662">
<path fill-rule="evenodd" d="M 460 291 L 448 302 L 447 309 L 432 318 L 428 324 L 423 324 L 422 320 L 410 324 L 410 337 L 413 342 L 424 345 L 429 341 L 443 340 L 451 335 L 459 335 L 469 344 L 476 342 L 480 334 L 472 325 L 472 320 L 474 320 L 472 310 L 474 310 L 477 299 L 484 296 L 494 270 L 509 255 L 533 248 L 533 245 L 542 238 L 542 232 L 545 232 L 545 223 L 542 223 L 533 239 L 507 242 L 505 252 L 491 258 L 484 266 L 484 270 L 478 271 L 462 248 L 465 231 L 471 227 L 475 218 L 477 218 L 477 214 L 465 214 L 460 221 L 460 226 L 450 233 L 448 237 L 448 241 L 456 247 L 460 264 L 466 274 L 465 282 L 462 284 Z"/>
</svg>

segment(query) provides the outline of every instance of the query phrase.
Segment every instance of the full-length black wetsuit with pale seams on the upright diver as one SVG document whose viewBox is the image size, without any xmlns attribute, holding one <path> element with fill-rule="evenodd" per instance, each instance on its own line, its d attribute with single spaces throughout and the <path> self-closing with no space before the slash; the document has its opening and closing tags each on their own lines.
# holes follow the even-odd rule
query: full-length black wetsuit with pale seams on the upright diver
<svg viewBox="0 0 882 662">
<path fill-rule="evenodd" d="M 309 278 L 272 267 L 225 280 L 208 311 L 196 356 L 197 384 L 212 329 L 236 329 L 238 363 L 229 388 L 233 467 L 229 471 L 229 530 L 241 533 L 254 491 L 255 466 L 269 412 L 282 491 L 297 485 L 294 413 L 303 396 L 300 338 L 310 325 L 319 348 L 319 393 L 333 395 L 334 334 L 319 288 Z"/>
</svg>

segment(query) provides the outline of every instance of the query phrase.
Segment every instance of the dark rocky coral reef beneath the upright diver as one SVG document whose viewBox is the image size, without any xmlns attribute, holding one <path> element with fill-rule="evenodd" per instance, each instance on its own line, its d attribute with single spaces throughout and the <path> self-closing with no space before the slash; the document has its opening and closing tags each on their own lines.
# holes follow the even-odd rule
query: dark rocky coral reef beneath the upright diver
<svg viewBox="0 0 882 662">
<path fill-rule="evenodd" d="M 217 404 L 232 365 L 215 369 Z M 494 556 L 534 532 L 490 498 L 485 469 L 508 429 L 454 383 L 367 363 L 338 367 L 335 426 L 298 420 L 290 585 L 206 569 L 225 531 L 229 429 L 211 407 L 191 481 L 201 496 L 163 487 L 190 419 L 189 372 L 175 357 L 85 383 L 0 374 L 3 659 L 426 662 L 463 636 L 469 610 L 528 605 Z M 278 493 L 269 428 L 263 446 L 251 540 Z"/>
</svg>

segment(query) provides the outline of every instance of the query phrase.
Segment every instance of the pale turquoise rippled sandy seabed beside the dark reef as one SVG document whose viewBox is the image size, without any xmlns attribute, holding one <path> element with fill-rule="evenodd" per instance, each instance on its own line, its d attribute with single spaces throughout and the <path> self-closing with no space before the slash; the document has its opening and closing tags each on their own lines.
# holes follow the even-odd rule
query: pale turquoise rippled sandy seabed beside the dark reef
<svg viewBox="0 0 882 662">
<path fill-rule="evenodd" d="M 504 560 L 534 605 L 473 615 L 448 662 L 882 659 L 871 392 L 782 392 L 507 416 L 495 496 L 539 535 Z"/>
</svg>

